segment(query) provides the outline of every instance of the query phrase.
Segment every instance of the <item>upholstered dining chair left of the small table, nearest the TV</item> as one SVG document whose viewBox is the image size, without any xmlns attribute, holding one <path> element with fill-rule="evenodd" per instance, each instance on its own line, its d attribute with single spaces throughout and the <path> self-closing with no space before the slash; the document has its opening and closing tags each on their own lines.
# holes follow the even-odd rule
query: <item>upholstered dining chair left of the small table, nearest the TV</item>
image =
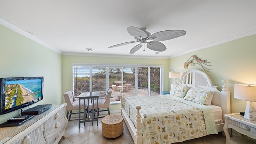
<svg viewBox="0 0 256 144">
<path fill-rule="evenodd" d="M 73 91 L 67 91 L 66 93 L 63 94 L 64 98 L 65 98 L 65 102 L 67 103 L 67 118 L 68 120 L 78 120 L 78 119 L 70 119 L 72 114 L 78 114 L 78 112 L 72 113 L 73 110 L 79 110 L 79 100 L 76 100 L 74 97 L 74 93 Z M 85 101 L 85 105 L 84 105 L 84 101 L 81 101 L 81 113 L 84 112 L 84 110 L 87 110 L 87 105 L 88 102 Z M 69 113 L 70 112 L 70 113 Z M 87 112 L 86 114 L 87 115 Z"/>
</svg>

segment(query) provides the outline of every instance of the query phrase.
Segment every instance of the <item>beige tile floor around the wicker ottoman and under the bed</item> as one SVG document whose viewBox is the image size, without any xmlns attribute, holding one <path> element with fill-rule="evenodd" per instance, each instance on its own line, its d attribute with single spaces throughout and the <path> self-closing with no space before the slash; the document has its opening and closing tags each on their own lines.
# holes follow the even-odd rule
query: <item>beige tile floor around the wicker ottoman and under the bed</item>
<svg viewBox="0 0 256 144">
<path fill-rule="evenodd" d="M 61 138 L 59 144 L 134 144 L 125 122 L 121 136 L 114 140 L 104 138 L 101 134 L 101 119 L 99 119 L 98 126 L 96 121 L 93 126 L 91 122 L 87 122 L 85 126 L 81 124 L 80 129 L 78 129 L 78 120 L 69 121 L 65 130 L 66 138 Z M 173 144 L 225 144 L 225 142 L 226 137 L 219 133 Z"/>
</svg>

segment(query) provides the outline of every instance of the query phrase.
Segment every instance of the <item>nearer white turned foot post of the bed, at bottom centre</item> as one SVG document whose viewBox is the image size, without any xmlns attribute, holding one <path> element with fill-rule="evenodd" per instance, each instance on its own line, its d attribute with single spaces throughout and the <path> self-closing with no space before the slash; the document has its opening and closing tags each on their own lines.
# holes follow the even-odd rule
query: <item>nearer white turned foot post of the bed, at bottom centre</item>
<svg viewBox="0 0 256 144">
<path fill-rule="evenodd" d="M 137 142 L 135 144 L 142 144 L 142 140 L 143 140 L 143 137 L 141 135 L 141 132 L 142 132 L 142 119 L 141 119 L 141 114 L 140 114 L 140 109 L 141 109 L 141 106 L 137 106 L 136 107 L 137 109 L 137 114 L 136 114 L 136 137 L 137 137 Z"/>
</svg>

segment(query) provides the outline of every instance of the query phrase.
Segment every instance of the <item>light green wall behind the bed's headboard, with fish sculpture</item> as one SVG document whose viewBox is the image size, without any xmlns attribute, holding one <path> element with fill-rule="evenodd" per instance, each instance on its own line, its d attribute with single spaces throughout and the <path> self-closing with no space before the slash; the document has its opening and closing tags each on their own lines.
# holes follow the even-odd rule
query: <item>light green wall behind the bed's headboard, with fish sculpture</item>
<svg viewBox="0 0 256 144">
<path fill-rule="evenodd" d="M 256 35 L 236 39 L 210 48 L 201 49 L 195 52 L 174 57 L 169 60 L 170 68 L 183 72 L 184 63 L 190 56 L 197 55 L 212 66 L 212 72 L 206 72 L 212 79 L 213 85 L 222 89 L 222 80 L 228 80 L 228 87 L 231 97 L 231 112 L 245 111 L 246 101 L 234 98 L 234 84 L 256 84 Z M 188 69 L 200 69 L 199 65 L 191 66 Z"/>
</svg>

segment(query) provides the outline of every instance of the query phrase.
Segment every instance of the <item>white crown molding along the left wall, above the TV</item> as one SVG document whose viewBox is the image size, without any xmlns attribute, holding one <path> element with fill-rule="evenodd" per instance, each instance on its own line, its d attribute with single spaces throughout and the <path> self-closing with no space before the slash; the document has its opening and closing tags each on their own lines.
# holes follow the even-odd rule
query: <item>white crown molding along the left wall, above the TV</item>
<svg viewBox="0 0 256 144">
<path fill-rule="evenodd" d="M 14 32 L 17 32 L 17 33 L 19 33 L 19 34 L 21 34 L 21 35 L 23 35 L 23 36 L 25 36 L 25 37 L 35 41 L 35 42 L 37 42 L 38 44 L 41 44 L 42 46 L 45 46 L 46 48 L 49 48 L 49 49 L 51 49 L 51 50 L 53 50 L 53 51 L 55 51 L 57 53 L 62 54 L 62 52 L 60 50 L 58 50 L 56 48 L 53 48 L 52 46 L 48 45 L 47 43 L 39 40 L 37 37 L 32 36 L 27 31 L 25 31 L 25 30 L 19 28 L 18 26 L 12 24 L 11 22 L 3 19 L 2 17 L 0 17 L 0 24 L 5 26 L 5 27 L 7 27 L 7 28 L 9 28 L 9 29 L 11 29 L 11 30 L 13 30 Z"/>
</svg>

